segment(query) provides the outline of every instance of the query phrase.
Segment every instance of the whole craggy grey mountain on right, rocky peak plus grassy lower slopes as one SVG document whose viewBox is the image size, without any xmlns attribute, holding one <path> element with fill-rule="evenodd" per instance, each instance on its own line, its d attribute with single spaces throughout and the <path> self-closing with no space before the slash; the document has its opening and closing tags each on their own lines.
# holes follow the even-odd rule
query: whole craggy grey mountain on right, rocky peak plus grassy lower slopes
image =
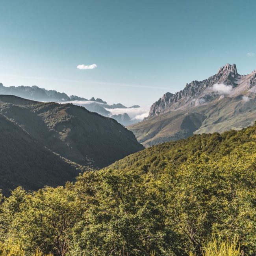
<svg viewBox="0 0 256 256">
<path fill-rule="evenodd" d="M 193 134 L 239 130 L 255 120 L 256 70 L 243 76 L 235 64 L 226 64 L 206 80 L 165 93 L 143 122 L 128 128 L 148 147 Z"/>
</svg>

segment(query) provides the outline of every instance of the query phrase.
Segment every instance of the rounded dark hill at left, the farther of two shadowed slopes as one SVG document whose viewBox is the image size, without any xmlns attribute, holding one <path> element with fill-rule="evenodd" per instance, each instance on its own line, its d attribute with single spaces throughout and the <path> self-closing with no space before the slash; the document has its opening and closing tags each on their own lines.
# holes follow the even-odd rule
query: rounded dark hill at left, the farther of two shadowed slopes
<svg viewBox="0 0 256 256">
<path fill-rule="evenodd" d="M 100 168 L 143 149 L 117 121 L 83 107 L 9 95 L 0 95 L 0 101 L 0 113 L 47 148 L 81 165 Z"/>
</svg>

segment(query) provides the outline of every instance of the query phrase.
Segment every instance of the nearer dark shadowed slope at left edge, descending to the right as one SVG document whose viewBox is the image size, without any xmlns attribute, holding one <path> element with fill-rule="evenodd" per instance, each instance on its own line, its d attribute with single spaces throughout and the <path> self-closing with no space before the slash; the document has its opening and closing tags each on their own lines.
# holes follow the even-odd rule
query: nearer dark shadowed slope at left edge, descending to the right
<svg viewBox="0 0 256 256">
<path fill-rule="evenodd" d="M 0 189 L 22 186 L 36 190 L 45 185 L 64 185 L 83 167 L 45 148 L 15 122 L 0 114 Z"/>
</svg>

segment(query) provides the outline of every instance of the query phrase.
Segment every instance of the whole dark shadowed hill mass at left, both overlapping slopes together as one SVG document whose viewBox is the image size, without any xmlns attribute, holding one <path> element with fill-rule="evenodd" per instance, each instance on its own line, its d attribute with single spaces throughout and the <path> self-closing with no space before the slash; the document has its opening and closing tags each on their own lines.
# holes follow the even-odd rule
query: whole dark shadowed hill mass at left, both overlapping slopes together
<svg viewBox="0 0 256 256">
<path fill-rule="evenodd" d="M 63 185 L 144 147 L 117 121 L 73 104 L 0 95 L 0 189 Z"/>
</svg>

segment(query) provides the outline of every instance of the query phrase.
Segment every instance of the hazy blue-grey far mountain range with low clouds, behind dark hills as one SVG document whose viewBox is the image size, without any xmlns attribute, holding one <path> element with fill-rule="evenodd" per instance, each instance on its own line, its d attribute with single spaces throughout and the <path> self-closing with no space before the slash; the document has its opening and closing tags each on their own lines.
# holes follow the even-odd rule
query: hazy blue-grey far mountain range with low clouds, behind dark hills
<svg viewBox="0 0 256 256">
<path fill-rule="evenodd" d="M 37 86 L 10 86 L 10 87 L 5 87 L 2 83 L 0 83 L 0 94 L 3 95 L 15 95 L 19 96 L 22 98 L 30 99 L 30 100 L 36 100 L 36 101 L 44 101 L 44 102 L 65 102 L 65 103 L 72 103 L 78 106 L 83 106 L 89 111 L 96 112 L 100 115 L 104 115 L 106 117 L 112 117 L 113 119 L 117 120 L 123 125 L 129 125 L 129 124 L 134 124 L 135 122 L 138 122 L 140 120 L 132 120 L 132 118 L 126 114 L 125 121 L 122 122 L 122 118 L 120 118 L 118 115 L 112 115 L 110 111 L 106 110 L 108 109 L 116 109 L 116 108 L 121 108 L 121 109 L 126 109 L 127 107 L 122 105 L 121 103 L 117 104 L 112 104 L 109 105 L 107 104 L 106 101 L 100 99 L 100 98 L 94 98 L 92 97 L 91 99 L 86 99 L 83 97 L 79 97 L 76 95 L 71 95 L 68 96 L 65 93 L 59 93 L 54 90 L 46 90 L 43 88 L 39 88 Z M 129 108 L 140 108 L 138 105 L 134 105 Z M 122 113 L 122 114 L 124 114 Z M 121 115 L 122 115 L 121 114 Z M 129 119 L 128 119 L 128 117 Z"/>
</svg>

